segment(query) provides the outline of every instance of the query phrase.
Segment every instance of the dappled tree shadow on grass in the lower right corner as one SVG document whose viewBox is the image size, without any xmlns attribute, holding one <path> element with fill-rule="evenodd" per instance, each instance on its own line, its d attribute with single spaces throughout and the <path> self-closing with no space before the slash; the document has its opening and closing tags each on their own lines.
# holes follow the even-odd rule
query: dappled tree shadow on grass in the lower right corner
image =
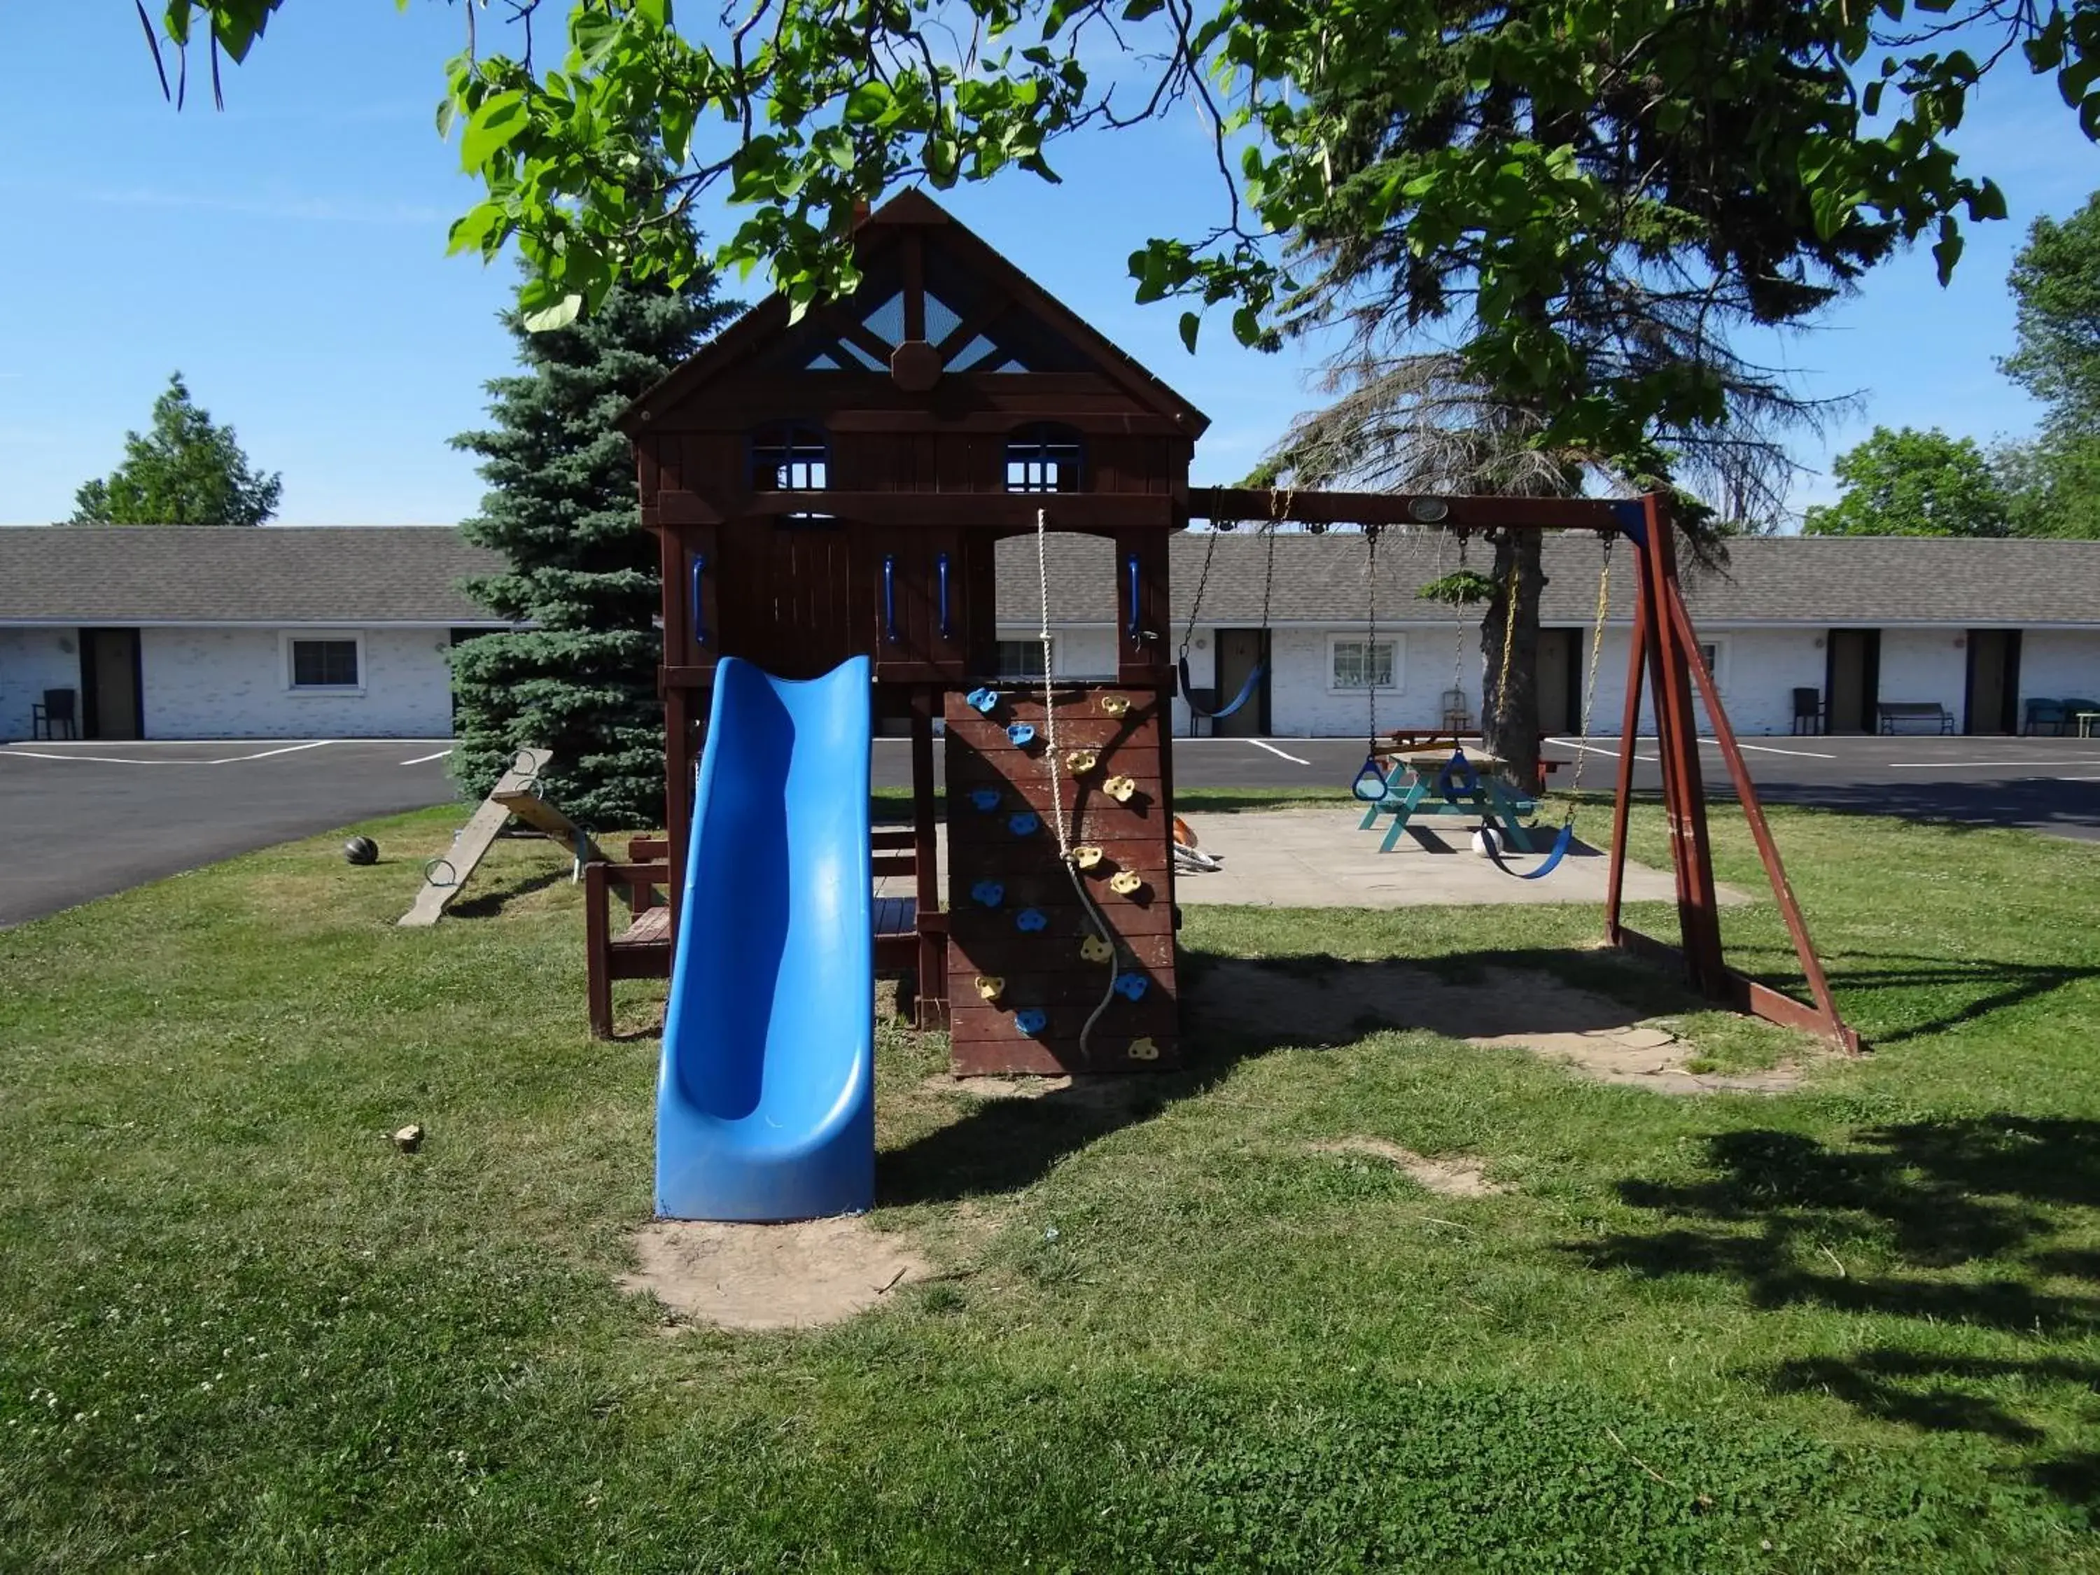
<svg viewBox="0 0 2100 1575">
<path fill-rule="evenodd" d="M 1625 1180 L 1619 1197 L 1667 1224 L 1564 1252 L 1644 1279 L 1722 1279 L 1764 1310 L 1917 1319 L 1922 1346 L 1924 1327 L 1947 1325 L 2037 1342 L 2100 1334 L 2100 1252 L 2048 1245 L 2092 1226 L 2068 1210 L 2100 1210 L 2100 1121 L 1911 1121 L 1844 1147 L 1796 1132 L 1722 1132 L 1707 1140 L 1707 1176 Z M 2100 1453 L 2050 1449 L 2048 1430 L 2018 1409 L 2020 1396 L 2050 1386 L 2083 1401 L 2100 1390 L 2096 1363 L 1880 1344 L 1787 1357 L 1754 1376 L 1922 1432 L 1999 1443 L 2020 1455 L 2001 1472 L 2100 1522 Z"/>
</svg>

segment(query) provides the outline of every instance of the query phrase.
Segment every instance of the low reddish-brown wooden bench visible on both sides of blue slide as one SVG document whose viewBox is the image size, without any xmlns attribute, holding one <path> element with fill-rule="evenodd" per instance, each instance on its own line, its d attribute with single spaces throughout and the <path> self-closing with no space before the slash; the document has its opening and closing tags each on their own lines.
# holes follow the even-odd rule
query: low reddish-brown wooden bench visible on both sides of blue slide
<svg viewBox="0 0 2100 1575">
<path fill-rule="evenodd" d="M 872 876 L 909 876 L 918 872 L 911 853 L 911 827 L 878 825 Z M 638 836 L 628 842 L 628 863 L 592 861 L 584 865 L 584 970 L 590 1000 L 590 1031 L 598 1040 L 613 1037 L 613 981 L 670 979 L 672 941 L 670 907 L 657 888 L 670 884 L 668 844 L 659 836 Z M 613 930 L 611 895 L 628 892 L 628 924 Z M 930 914 L 928 930 L 945 932 L 945 914 Z M 901 979 L 897 1010 L 909 1014 L 920 972 L 918 899 L 874 899 L 876 974 Z"/>
</svg>

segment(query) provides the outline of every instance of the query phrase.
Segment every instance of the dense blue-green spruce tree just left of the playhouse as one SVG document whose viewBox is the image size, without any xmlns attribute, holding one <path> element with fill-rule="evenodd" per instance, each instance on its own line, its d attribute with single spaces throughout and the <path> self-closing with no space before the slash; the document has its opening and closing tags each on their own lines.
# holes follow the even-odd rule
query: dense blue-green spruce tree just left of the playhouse
<svg viewBox="0 0 2100 1575">
<path fill-rule="evenodd" d="M 548 802 L 578 823 L 662 823 L 657 548 L 613 418 L 733 313 L 706 275 L 678 292 L 622 286 L 588 317 L 540 334 L 504 313 L 523 370 L 487 384 L 491 430 L 452 441 L 481 456 L 489 485 L 460 529 L 510 561 L 466 592 L 533 628 L 452 653 L 452 771 L 472 796 L 538 746 L 554 752 L 542 773 Z"/>
</svg>

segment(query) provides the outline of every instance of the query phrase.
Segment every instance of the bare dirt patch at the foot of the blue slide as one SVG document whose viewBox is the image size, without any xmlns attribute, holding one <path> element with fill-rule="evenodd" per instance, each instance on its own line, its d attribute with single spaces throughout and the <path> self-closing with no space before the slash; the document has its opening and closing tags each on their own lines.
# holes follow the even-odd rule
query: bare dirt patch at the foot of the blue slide
<svg viewBox="0 0 2100 1575">
<path fill-rule="evenodd" d="M 844 1323 L 926 1279 L 932 1266 L 867 1220 L 720 1224 L 657 1220 L 634 1235 L 640 1270 L 620 1289 L 649 1292 L 691 1323 L 720 1329 L 813 1329 Z"/>
</svg>

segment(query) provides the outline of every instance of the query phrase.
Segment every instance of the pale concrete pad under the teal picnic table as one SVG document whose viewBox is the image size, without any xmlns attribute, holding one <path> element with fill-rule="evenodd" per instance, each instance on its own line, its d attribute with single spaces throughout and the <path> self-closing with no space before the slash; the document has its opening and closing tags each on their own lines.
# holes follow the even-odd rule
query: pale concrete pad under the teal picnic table
<svg viewBox="0 0 2100 1575">
<path fill-rule="evenodd" d="M 1359 832 L 1361 808 L 1308 804 L 1241 815 L 1197 815 L 1189 823 L 1224 861 L 1218 874 L 1184 874 L 1176 882 L 1182 903 L 1235 903 L 1243 907 L 1470 907 L 1476 903 L 1588 903 L 1602 905 L 1606 859 L 1577 838 L 1560 867 L 1544 880 L 1514 880 L 1470 846 L 1472 825 L 1453 817 L 1422 825 L 1392 853 L 1380 853 L 1390 821 Z M 1541 834 L 1541 842 L 1550 832 Z M 1508 855 L 1514 869 L 1531 869 L 1539 855 Z M 1676 880 L 1661 869 L 1628 861 L 1625 901 L 1674 903 Z M 1720 888 L 1722 903 L 1747 903 L 1747 892 Z"/>
</svg>

